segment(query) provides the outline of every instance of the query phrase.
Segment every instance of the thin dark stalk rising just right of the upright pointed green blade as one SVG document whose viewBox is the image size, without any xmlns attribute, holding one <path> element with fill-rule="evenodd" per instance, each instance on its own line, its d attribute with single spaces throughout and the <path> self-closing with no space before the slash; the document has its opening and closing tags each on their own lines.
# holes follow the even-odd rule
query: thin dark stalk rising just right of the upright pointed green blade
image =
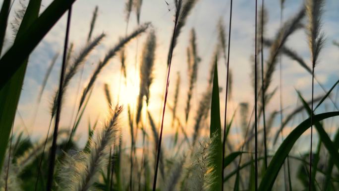
<svg viewBox="0 0 339 191">
<path fill-rule="evenodd" d="M 227 95 L 228 95 L 228 76 L 229 76 L 229 47 L 230 47 L 230 33 L 231 33 L 231 21 L 232 21 L 232 0 L 230 0 L 230 12 L 229 12 L 229 29 L 228 29 L 228 52 L 227 52 L 227 65 L 226 65 L 226 95 L 225 95 L 225 118 L 224 118 L 224 138 L 223 138 L 223 158 L 222 158 L 222 175 L 221 175 L 221 191 L 224 191 L 224 168 L 225 168 L 225 145 L 226 145 L 226 114 L 227 114 Z"/>
</svg>

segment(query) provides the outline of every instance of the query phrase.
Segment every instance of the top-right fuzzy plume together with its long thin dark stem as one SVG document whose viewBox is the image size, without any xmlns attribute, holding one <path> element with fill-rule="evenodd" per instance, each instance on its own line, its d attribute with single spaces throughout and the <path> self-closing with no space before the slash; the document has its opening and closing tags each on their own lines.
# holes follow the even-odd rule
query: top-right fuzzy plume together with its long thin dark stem
<svg viewBox="0 0 339 191">
<path fill-rule="evenodd" d="M 318 56 L 325 43 L 325 34 L 321 32 L 321 16 L 323 13 L 325 0 L 307 0 L 306 1 L 306 13 L 308 16 L 307 36 L 308 45 L 311 52 L 312 62 L 312 103 L 311 111 L 313 111 L 313 91 L 314 91 L 314 68 L 318 63 Z M 311 124 L 313 119 L 313 113 L 311 114 Z M 310 140 L 310 176 L 309 176 L 309 191 L 311 191 L 312 181 L 312 138 L 313 138 L 313 126 L 311 126 L 311 140 Z"/>
</svg>

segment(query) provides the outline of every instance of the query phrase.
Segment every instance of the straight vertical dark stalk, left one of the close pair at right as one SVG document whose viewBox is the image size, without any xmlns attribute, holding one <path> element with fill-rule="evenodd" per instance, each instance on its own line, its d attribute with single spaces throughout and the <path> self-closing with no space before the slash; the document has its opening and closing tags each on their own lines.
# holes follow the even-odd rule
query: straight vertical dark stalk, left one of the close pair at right
<svg viewBox="0 0 339 191">
<path fill-rule="evenodd" d="M 254 58 L 254 133 L 255 133 L 255 191 L 258 190 L 258 119 L 257 119 L 257 0 L 255 0 L 255 58 Z"/>
</svg>

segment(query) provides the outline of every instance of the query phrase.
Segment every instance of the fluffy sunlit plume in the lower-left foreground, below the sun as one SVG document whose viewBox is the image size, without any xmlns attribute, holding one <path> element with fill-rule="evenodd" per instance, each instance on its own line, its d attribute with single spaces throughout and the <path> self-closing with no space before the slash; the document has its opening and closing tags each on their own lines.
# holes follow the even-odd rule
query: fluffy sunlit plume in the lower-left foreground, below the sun
<svg viewBox="0 0 339 191">
<path fill-rule="evenodd" d="M 92 185 L 98 180 L 97 175 L 107 166 L 110 147 L 118 131 L 117 123 L 121 111 L 121 106 L 116 106 L 114 111 L 110 111 L 110 118 L 93 141 L 90 153 L 79 152 L 74 156 L 66 155 L 66 160 L 58 173 L 62 191 L 91 190 Z"/>
</svg>

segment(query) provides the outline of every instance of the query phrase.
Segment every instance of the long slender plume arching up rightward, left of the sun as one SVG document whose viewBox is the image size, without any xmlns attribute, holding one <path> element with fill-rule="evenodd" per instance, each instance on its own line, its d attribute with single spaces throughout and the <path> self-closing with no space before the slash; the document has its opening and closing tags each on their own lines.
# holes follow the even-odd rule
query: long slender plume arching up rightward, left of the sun
<svg viewBox="0 0 339 191">
<path fill-rule="evenodd" d="M 119 40 L 119 42 L 112 48 L 109 50 L 109 52 L 106 54 L 105 58 L 103 61 L 100 61 L 97 65 L 97 67 L 95 68 L 87 86 L 84 88 L 83 92 L 82 92 L 82 96 L 80 99 L 80 104 L 79 104 L 79 108 L 78 110 L 80 111 L 80 108 L 82 106 L 82 104 L 85 101 L 85 98 L 87 96 L 87 94 L 90 92 L 90 89 L 92 88 L 95 80 L 97 79 L 99 73 L 101 72 L 101 70 L 103 69 L 103 67 L 109 63 L 109 61 L 115 56 L 115 54 L 123 48 L 123 46 L 125 44 L 127 44 L 130 40 L 134 39 L 135 37 L 137 37 L 138 35 L 140 35 L 141 33 L 145 32 L 146 29 L 150 26 L 151 23 L 144 23 L 142 25 L 140 25 L 137 29 L 135 29 L 131 34 L 129 34 L 128 36 L 126 36 L 125 38 L 121 38 Z"/>
</svg>

